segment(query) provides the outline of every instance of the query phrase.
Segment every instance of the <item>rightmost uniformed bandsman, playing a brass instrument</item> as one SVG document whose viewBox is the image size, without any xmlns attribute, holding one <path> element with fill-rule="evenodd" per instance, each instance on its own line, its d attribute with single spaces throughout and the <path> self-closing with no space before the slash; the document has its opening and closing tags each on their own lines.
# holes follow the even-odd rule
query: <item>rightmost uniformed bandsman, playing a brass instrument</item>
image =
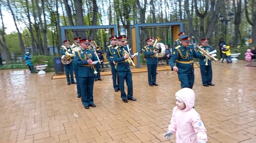
<svg viewBox="0 0 256 143">
<path fill-rule="evenodd" d="M 209 38 L 203 38 L 201 39 L 201 48 L 204 49 L 206 52 L 213 51 L 213 48 L 208 45 Z M 203 86 L 208 87 L 214 86 L 214 84 L 211 82 L 212 80 L 212 68 L 211 68 L 211 60 L 207 59 L 205 56 L 200 57 L 199 61 L 200 65 L 200 72 L 202 76 L 202 84 Z"/>
</svg>

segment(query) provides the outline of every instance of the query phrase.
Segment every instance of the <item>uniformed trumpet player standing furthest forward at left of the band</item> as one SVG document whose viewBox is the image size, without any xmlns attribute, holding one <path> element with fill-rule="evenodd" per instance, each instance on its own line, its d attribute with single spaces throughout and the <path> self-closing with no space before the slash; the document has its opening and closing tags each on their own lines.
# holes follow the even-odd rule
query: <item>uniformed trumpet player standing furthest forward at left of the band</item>
<svg viewBox="0 0 256 143">
<path fill-rule="evenodd" d="M 97 61 L 96 56 L 92 50 L 88 49 L 89 41 L 88 37 L 80 40 L 81 50 L 75 52 L 74 64 L 79 66 L 78 68 L 78 82 L 81 89 L 81 101 L 86 109 L 89 107 L 96 107 L 93 102 L 93 85 L 95 78 L 95 65 L 94 61 Z"/>
</svg>

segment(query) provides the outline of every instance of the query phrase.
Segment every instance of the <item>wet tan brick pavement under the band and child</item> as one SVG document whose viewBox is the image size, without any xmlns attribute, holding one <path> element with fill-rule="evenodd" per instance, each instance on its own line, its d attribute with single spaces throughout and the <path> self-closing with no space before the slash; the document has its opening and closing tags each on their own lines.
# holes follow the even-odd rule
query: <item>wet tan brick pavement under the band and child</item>
<svg viewBox="0 0 256 143">
<path fill-rule="evenodd" d="M 256 143 L 256 67 L 247 62 L 213 63 L 213 83 L 204 87 L 195 69 L 195 109 L 207 143 Z M 175 143 L 168 129 L 177 73 L 159 71 L 151 87 L 147 72 L 133 73 L 133 96 L 124 103 L 112 76 L 94 83 L 95 108 L 84 109 L 76 85 L 51 79 L 54 72 L 0 71 L 0 143 Z"/>
</svg>

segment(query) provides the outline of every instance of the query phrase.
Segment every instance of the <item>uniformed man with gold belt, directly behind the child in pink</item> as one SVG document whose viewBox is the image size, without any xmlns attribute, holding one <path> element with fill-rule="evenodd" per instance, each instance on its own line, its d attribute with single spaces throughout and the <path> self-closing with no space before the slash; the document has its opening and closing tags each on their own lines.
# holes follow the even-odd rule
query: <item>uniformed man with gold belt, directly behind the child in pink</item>
<svg viewBox="0 0 256 143">
<path fill-rule="evenodd" d="M 190 36 L 180 36 L 181 45 L 173 49 L 170 66 L 172 71 L 178 72 L 181 88 L 191 88 L 194 84 L 193 58 L 201 57 L 194 51 Z"/>
</svg>

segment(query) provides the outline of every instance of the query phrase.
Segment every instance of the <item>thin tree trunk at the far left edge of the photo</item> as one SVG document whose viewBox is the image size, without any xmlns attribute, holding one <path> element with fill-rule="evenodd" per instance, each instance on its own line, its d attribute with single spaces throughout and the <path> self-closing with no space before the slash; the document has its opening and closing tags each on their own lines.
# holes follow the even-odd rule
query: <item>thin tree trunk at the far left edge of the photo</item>
<svg viewBox="0 0 256 143">
<path fill-rule="evenodd" d="M 9 64 L 11 60 L 11 56 L 5 40 L 4 23 L 2 18 L 1 6 L 0 6 L 0 17 L 1 17 L 1 23 L 2 23 L 2 29 L 0 30 L 1 31 L 0 46 L 3 48 L 3 54 L 6 55 L 6 59 L 5 59 L 6 63 Z"/>
</svg>

